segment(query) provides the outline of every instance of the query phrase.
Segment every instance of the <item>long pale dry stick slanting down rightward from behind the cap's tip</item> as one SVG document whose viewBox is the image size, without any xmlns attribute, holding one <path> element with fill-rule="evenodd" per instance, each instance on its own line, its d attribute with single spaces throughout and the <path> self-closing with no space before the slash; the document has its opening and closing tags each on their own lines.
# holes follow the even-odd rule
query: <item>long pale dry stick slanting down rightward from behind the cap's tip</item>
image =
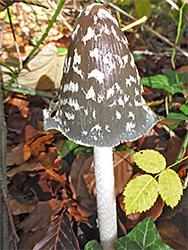
<svg viewBox="0 0 188 250">
<path fill-rule="evenodd" d="M 101 0 L 101 2 L 109 5 L 110 7 L 114 8 L 115 10 L 118 10 L 119 12 L 121 12 L 123 15 L 129 17 L 132 20 L 136 20 L 136 18 L 134 18 L 133 16 L 129 15 L 127 12 L 125 12 L 124 10 L 120 9 L 119 7 L 117 7 L 116 5 L 109 3 L 106 0 Z M 171 47 L 175 47 L 179 52 L 181 52 L 184 56 L 188 57 L 188 52 L 186 52 L 185 50 L 175 46 L 172 42 L 169 41 L 169 39 L 167 39 L 166 37 L 160 35 L 157 31 L 152 30 L 149 26 L 147 26 L 146 24 L 141 24 L 141 26 L 143 26 L 145 29 L 147 29 L 148 31 L 150 31 L 151 33 L 153 33 L 154 35 L 156 35 L 157 37 L 159 37 L 161 40 L 165 41 L 167 44 L 169 44 Z"/>
</svg>

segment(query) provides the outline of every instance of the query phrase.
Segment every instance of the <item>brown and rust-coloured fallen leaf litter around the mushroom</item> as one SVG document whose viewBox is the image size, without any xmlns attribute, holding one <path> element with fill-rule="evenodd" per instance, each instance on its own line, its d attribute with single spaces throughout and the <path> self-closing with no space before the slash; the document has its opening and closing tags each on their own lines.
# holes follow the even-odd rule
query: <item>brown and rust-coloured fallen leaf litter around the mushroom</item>
<svg viewBox="0 0 188 250">
<path fill-rule="evenodd" d="M 16 8 L 18 8 L 18 5 L 16 5 Z M 30 22 L 30 18 L 28 18 L 29 12 L 25 10 L 22 10 L 22 12 L 25 20 Z M 71 18 L 70 20 L 74 21 Z M 46 25 L 43 17 L 40 19 L 40 22 L 39 26 L 43 24 L 44 27 Z M 21 23 L 21 25 L 24 25 L 24 23 Z M 31 22 L 28 27 L 30 25 Z M 4 55 L 10 58 L 10 54 L 12 54 L 15 58 L 11 57 L 12 59 L 11 61 L 9 59 L 8 65 L 16 67 L 18 65 L 17 54 L 12 52 L 15 50 L 8 24 L 6 24 L 5 30 L 7 38 L 4 43 Z M 67 48 L 70 40 L 70 32 L 66 28 L 62 32 L 62 29 L 56 26 L 56 30 L 58 32 L 54 34 L 52 32 L 51 37 L 46 39 L 46 44 L 49 44 L 49 47 L 44 47 L 43 45 L 44 50 L 38 53 L 38 55 L 43 56 L 42 53 L 48 50 L 48 60 L 53 61 L 53 64 L 59 63 L 57 62 L 59 60 L 57 48 L 54 47 L 54 44 Z M 33 46 L 25 40 L 23 31 L 19 31 L 21 32 L 19 43 L 21 48 L 23 48 L 21 55 L 25 56 Z M 40 39 L 41 34 L 42 31 L 35 27 L 32 30 L 32 34 L 29 35 Z M 53 44 L 50 44 L 52 41 Z M 135 37 L 131 34 L 129 42 L 131 50 L 138 48 L 142 50 L 147 49 L 146 43 L 141 44 L 141 39 L 136 43 Z M 156 41 L 154 40 L 154 42 Z M 160 50 L 157 42 L 155 45 Z M 33 62 L 36 61 L 37 56 Z M 41 62 L 49 66 L 49 63 L 45 63 L 44 58 L 41 58 Z M 160 56 L 154 56 L 153 58 L 152 56 L 146 56 L 146 60 L 137 61 L 138 67 L 140 66 L 139 72 L 145 77 L 152 76 L 153 72 L 162 74 L 161 68 L 168 64 L 169 58 Z M 41 82 L 38 84 L 41 73 L 38 73 L 39 71 L 37 70 L 40 70 L 42 65 L 39 65 L 39 67 L 37 65 L 34 66 L 36 66 L 34 69 L 36 79 L 33 78 L 32 72 L 25 71 L 23 73 L 22 71 L 18 83 L 25 83 L 33 89 L 37 86 L 42 89 L 58 87 L 59 80 L 55 78 L 54 74 L 52 74 L 54 77 L 52 82 L 56 79 L 55 85 L 48 84 L 47 87 L 44 86 L 47 78 L 41 78 Z M 50 67 L 55 72 L 58 69 L 58 67 Z M 180 60 L 179 65 L 177 65 L 178 73 L 187 72 L 185 67 Z M 146 69 L 149 75 L 142 71 L 143 68 Z M 42 69 L 44 68 L 42 67 Z M 49 70 L 50 68 L 45 69 L 45 72 Z M 187 84 L 182 86 L 187 86 Z M 152 89 L 149 86 L 144 86 L 144 90 L 144 98 L 148 105 L 152 106 L 153 110 L 159 115 L 166 116 L 165 98 L 168 97 L 168 92 L 165 89 Z M 186 102 L 186 99 L 186 94 L 174 94 L 169 103 L 171 111 L 177 112 L 179 107 Z M 78 149 L 78 146 L 73 145 L 71 150 L 66 151 L 62 157 L 63 159 L 60 157 L 62 155 L 61 150 L 65 150 L 60 145 L 64 145 L 66 138 L 57 131 L 45 133 L 42 130 L 42 110 L 47 105 L 48 101 L 45 98 L 16 93 L 9 94 L 4 100 L 7 125 L 9 206 L 20 239 L 18 248 L 36 250 L 63 246 L 65 249 L 79 249 L 80 246 L 83 249 L 87 241 L 93 238 L 99 240 L 96 222 L 93 156 L 91 154 L 82 156 L 82 153 L 84 154 L 85 152 L 84 148 L 78 151 L 79 153 L 76 156 L 74 149 Z M 135 151 L 138 149 L 155 149 L 165 156 L 167 165 L 169 165 L 175 161 L 188 128 L 186 120 L 178 122 L 172 135 L 168 129 L 168 126 L 172 125 L 172 123 L 174 125 L 177 122 L 174 122 L 174 120 L 163 120 L 142 139 L 133 143 L 124 143 L 123 146 Z M 184 155 L 187 154 L 188 150 Z M 145 217 L 152 216 L 166 244 L 174 249 L 183 249 L 183 247 L 187 246 L 185 233 L 187 230 L 185 227 L 187 216 L 186 195 L 183 195 L 182 200 L 174 210 L 164 206 L 164 202 L 158 197 L 155 204 L 148 211 L 125 216 L 122 192 L 129 181 L 139 176 L 142 171 L 135 168 L 132 155 L 127 151 L 114 152 L 114 165 L 119 235 L 124 236 L 138 222 Z M 187 165 L 188 161 L 185 161 L 179 166 L 179 171 L 183 169 L 181 172 L 182 180 L 187 174 Z M 186 192 L 187 189 L 185 190 Z M 65 241 L 67 238 L 68 242 Z"/>
</svg>

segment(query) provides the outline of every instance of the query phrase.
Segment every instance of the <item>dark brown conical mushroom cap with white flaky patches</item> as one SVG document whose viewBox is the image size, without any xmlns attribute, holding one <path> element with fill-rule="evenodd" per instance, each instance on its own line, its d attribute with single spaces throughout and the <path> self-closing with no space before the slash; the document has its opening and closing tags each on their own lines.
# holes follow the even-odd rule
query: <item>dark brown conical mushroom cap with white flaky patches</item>
<svg viewBox="0 0 188 250">
<path fill-rule="evenodd" d="M 44 128 L 60 130 L 87 146 L 134 141 L 159 120 L 142 92 L 117 20 L 103 5 L 91 4 L 80 14 L 72 33 L 58 102 L 44 111 Z"/>
</svg>

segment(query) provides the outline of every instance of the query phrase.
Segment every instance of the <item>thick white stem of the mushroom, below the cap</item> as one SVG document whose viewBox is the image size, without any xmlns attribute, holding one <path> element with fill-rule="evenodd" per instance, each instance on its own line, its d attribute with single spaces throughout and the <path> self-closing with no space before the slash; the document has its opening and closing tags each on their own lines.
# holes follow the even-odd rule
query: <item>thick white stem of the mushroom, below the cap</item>
<svg viewBox="0 0 188 250">
<path fill-rule="evenodd" d="M 112 148 L 94 147 L 94 161 L 100 242 L 104 250 L 113 250 L 117 217 Z"/>
</svg>

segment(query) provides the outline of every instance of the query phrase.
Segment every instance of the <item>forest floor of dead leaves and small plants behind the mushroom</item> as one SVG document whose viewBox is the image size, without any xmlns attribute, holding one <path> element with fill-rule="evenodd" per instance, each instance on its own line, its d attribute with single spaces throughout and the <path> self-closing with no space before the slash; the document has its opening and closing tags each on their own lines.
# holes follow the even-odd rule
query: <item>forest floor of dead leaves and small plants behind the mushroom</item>
<svg viewBox="0 0 188 250">
<path fill-rule="evenodd" d="M 73 27 L 81 7 L 85 5 L 73 5 L 66 1 L 61 14 Z M 116 14 L 113 8 L 108 8 Z M 20 58 L 24 60 L 45 32 L 54 11 L 19 3 L 14 4 L 11 10 Z M 0 60 L 16 69 L 20 62 L 12 29 L 7 18 L 3 23 L 3 18 L 2 14 Z M 122 14 L 120 20 L 122 26 L 130 21 Z M 177 23 L 169 15 L 158 11 L 148 22 L 148 25 L 155 23 L 155 30 L 172 43 L 175 42 Z M 164 69 L 172 70 L 172 47 L 165 41 L 140 26 L 125 32 L 125 35 L 141 77 L 162 74 Z M 92 149 L 70 142 L 57 131 L 43 131 L 43 109 L 49 106 L 50 97 L 55 95 L 62 76 L 57 72 L 62 72 L 65 50 L 57 48 L 67 49 L 70 38 L 71 30 L 58 16 L 40 45 L 40 52 L 30 62 L 32 70 L 25 66 L 11 86 L 11 91 L 4 96 L 8 199 L 19 237 L 18 249 L 55 249 L 59 245 L 64 247 L 62 249 L 83 249 L 89 240 L 99 241 Z M 187 40 L 186 31 L 181 37 L 183 50 L 187 49 Z M 187 62 L 187 58 L 176 51 L 178 73 L 188 72 Z M 12 73 L 4 68 L 1 73 L 6 86 Z M 183 85 L 183 88 L 187 87 L 188 82 Z M 22 93 L 18 93 L 20 89 Z M 134 151 L 157 150 L 165 157 L 167 165 L 173 164 L 188 130 L 188 119 L 165 118 L 171 112 L 181 114 L 180 108 L 187 105 L 188 93 L 179 91 L 171 94 L 165 89 L 144 86 L 143 96 L 162 120 L 141 139 L 121 146 Z M 187 188 L 174 209 L 166 206 L 159 197 L 150 210 L 125 215 L 122 192 L 133 176 L 142 173 L 133 166 L 129 151 L 114 152 L 119 237 L 126 235 L 143 218 L 152 216 L 166 244 L 177 250 L 187 249 Z M 182 157 L 187 155 L 188 149 L 185 148 Z M 185 160 L 177 169 L 182 183 L 185 182 L 187 170 L 188 160 Z M 11 230 L 9 241 L 13 248 Z"/>
</svg>

